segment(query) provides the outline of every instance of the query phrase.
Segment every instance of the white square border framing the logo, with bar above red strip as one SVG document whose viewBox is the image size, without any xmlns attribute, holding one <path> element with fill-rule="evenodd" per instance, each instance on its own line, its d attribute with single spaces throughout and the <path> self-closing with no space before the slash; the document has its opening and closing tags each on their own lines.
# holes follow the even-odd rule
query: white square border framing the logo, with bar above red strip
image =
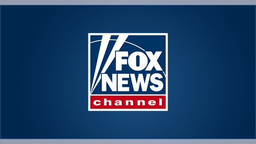
<svg viewBox="0 0 256 144">
<path fill-rule="evenodd" d="M 165 53 L 166 53 L 166 65 L 165 65 L 165 72 L 164 75 L 166 76 L 165 84 L 165 95 L 158 95 L 158 96 L 165 96 L 165 109 L 91 109 L 90 108 L 90 97 L 91 96 L 114 96 L 114 95 L 93 95 L 91 94 L 91 73 L 90 73 L 90 53 L 91 53 L 91 36 L 99 36 L 104 34 L 111 34 L 111 35 L 121 35 L 121 34 L 128 34 L 129 36 L 165 36 Z M 156 95 L 118 95 L 118 96 L 156 96 Z M 168 111 L 168 33 L 88 33 L 88 111 Z"/>
</svg>

